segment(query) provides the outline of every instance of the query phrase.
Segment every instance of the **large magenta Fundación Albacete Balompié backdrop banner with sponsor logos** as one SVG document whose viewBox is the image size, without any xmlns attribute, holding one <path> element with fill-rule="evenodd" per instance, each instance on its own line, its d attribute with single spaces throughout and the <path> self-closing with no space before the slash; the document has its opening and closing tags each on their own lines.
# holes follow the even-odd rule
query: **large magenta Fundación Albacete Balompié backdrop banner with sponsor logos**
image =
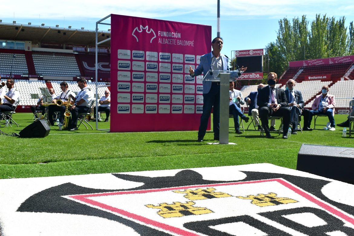
<svg viewBox="0 0 354 236">
<path fill-rule="evenodd" d="M 198 130 L 211 26 L 111 15 L 111 132 Z"/>
</svg>

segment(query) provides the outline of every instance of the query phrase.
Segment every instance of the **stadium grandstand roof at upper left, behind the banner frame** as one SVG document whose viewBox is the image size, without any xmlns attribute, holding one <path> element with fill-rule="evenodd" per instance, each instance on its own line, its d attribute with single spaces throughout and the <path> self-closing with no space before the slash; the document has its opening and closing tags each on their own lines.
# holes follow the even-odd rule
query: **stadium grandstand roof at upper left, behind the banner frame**
<svg viewBox="0 0 354 236">
<path fill-rule="evenodd" d="M 98 41 L 107 39 L 110 35 L 110 31 L 98 31 Z M 32 41 L 32 44 L 37 44 L 38 42 L 52 42 L 95 46 L 95 36 L 95 30 L 0 23 L 0 40 Z M 99 46 L 109 47 L 110 41 L 104 42 Z"/>
</svg>

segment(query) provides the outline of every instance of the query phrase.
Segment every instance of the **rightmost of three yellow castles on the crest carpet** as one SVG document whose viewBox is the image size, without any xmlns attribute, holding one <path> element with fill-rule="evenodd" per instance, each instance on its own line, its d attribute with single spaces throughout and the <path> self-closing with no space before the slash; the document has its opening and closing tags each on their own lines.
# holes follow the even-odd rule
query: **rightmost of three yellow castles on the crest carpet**
<svg viewBox="0 0 354 236">
<path fill-rule="evenodd" d="M 277 197 L 276 195 L 277 194 L 275 194 L 274 192 L 270 192 L 269 194 L 257 194 L 257 196 L 255 195 L 248 195 L 247 197 L 238 196 L 238 198 L 252 200 L 251 203 L 259 207 L 276 206 L 281 204 L 298 202 L 288 197 Z"/>
</svg>

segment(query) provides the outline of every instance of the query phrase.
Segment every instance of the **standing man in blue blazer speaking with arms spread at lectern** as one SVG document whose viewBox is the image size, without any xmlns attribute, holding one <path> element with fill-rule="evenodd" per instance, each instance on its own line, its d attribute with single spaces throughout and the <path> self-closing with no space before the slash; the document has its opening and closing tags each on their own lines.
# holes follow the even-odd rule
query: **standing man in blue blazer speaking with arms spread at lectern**
<svg viewBox="0 0 354 236">
<path fill-rule="evenodd" d="M 190 76 L 198 76 L 202 73 L 206 75 L 210 69 L 212 70 L 229 70 L 229 59 L 220 51 L 223 46 L 223 40 L 220 37 L 216 37 L 212 40 L 211 46 L 213 51 L 200 57 L 200 64 L 195 70 L 189 67 Z M 241 67 L 240 71 L 247 69 Z M 200 117 L 200 126 L 198 131 L 198 142 L 202 142 L 208 126 L 208 120 L 213 109 L 213 131 L 214 139 L 219 140 L 219 105 L 220 105 L 220 82 L 211 82 L 203 80 L 203 113 Z"/>
</svg>

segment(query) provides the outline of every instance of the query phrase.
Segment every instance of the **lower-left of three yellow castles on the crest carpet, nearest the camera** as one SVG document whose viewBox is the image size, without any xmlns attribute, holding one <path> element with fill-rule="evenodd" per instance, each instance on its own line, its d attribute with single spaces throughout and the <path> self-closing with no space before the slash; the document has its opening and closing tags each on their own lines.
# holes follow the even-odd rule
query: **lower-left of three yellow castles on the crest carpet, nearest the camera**
<svg viewBox="0 0 354 236">
<path fill-rule="evenodd" d="M 159 206 L 145 205 L 149 208 L 160 209 L 158 214 L 163 218 L 182 217 L 185 215 L 202 215 L 213 213 L 205 207 L 194 207 L 195 202 L 173 202 L 173 204 L 161 203 Z"/>
</svg>

